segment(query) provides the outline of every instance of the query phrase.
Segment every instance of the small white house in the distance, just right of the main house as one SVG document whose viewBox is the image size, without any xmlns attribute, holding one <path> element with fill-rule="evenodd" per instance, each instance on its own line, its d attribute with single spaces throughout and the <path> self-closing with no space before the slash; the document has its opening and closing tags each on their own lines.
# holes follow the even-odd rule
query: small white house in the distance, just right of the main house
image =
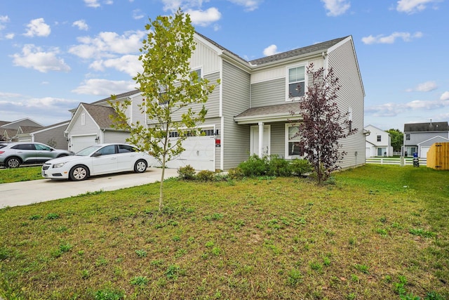
<svg viewBox="0 0 449 300">
<path fill-rule="evenodd" d="M 368 125 L 366 131 L 366 157 L 393 156 L 391 136 L 387 131 Z"/>
</svg>

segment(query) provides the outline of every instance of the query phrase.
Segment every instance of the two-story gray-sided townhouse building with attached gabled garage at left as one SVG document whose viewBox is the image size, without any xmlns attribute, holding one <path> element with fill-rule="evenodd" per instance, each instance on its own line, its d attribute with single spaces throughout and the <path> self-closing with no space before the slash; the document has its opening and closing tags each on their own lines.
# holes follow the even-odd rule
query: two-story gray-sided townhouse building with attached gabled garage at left
<svg viewBox="0 0 449 300">
<path fill-rule="evenodd" d="M 197 170 L 227 170 L 253 154 L 299 157 L 295 150 L 295 143 L 300 139 L 296 136 L 297 122 L 301 121 L 298 100 L 307 91 L 309 63 L 326 70 L 333 67 L 342 84 L 337 105 L 341 112 L 349 112 L 352 128 L 358 129 L 356 134 L 341 141 L 341 150 L 347 155 L 340 166 L 354 167 L 365 162 L 365 93 L 351 36 L 250 61 L 199 33 L 194 39 L 197 45 L 190 59 L 192 71 L 199 72 L 210 83 L 220 79 L 220 85 L 209 95 L 201 135 L 187 138 L 183 143 L 185 152 L 168 162 L 167 167 L 190 164 Z M 302 87 L 300 91 L 298 85 Z M 131 101 L 126 111 L 130 122 L 139 120 L 152 126 L 152 120 L 145 119 L 138 111 L 138 104 L 142 103 L 140 91 L 117 95 L 117 100 L 125 98 Z M 126 139 L 128 133 L 111 128 L 109 115 L 114 112 L 107 100 L 110 98 L 91 105 L 81 103 L 74 110 L 66 131 L 72 151 L 91 143 Z M 181 114 L 177 112 L 173 117 L 179 118 Z M 170 135 L 175 137 L 177 133 Z"/>
</svg>

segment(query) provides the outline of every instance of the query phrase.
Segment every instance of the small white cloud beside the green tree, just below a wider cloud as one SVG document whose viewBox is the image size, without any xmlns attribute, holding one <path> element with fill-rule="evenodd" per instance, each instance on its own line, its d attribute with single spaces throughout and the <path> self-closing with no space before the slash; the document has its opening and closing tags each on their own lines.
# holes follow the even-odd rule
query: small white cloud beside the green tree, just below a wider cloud
<svg viewBox="0 0 449 300">
<path fill-rule="evenodd" d="M 135 77 L 138 72 L 143 71 L 142 62 L 139 60 L 139 56 L 132 55 L 108 60 L 95 60 L 89 67 L 97 71 L 104 71 L 106 67 L 114 68 L 115 70 L 129 74 L 130 77 Z"/>
</svg>

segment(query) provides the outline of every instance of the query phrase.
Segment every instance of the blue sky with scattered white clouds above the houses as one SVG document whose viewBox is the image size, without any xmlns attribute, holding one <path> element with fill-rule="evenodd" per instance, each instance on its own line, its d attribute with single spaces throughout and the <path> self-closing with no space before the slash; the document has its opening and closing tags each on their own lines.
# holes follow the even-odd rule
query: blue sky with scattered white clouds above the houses
<svg viewBox="0 0 449 300">
<path fill-rule="evenodd" d="M 448 0 L 1 1 L 0 120 L 55 124 L 135 89 L 145 24 L 178 7 L 247 60 L 351 35 L 365 126 L 449 120 Z"/>
</svg>

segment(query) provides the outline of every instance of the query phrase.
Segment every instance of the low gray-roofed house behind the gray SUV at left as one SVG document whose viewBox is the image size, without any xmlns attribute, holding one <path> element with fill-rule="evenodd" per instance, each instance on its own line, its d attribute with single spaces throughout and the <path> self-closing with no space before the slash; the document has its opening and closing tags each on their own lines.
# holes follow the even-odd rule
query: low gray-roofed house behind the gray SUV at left
<svg viewBox="0 0 449 300">
<path fill-rule="evenodd" d="M 53 148 L 68 150 L 65 129 L 69 121 L 52 124 L 45 127 L 20 126 L 16 136 L 18 141 L 39 142 Z"/>
</svg>

